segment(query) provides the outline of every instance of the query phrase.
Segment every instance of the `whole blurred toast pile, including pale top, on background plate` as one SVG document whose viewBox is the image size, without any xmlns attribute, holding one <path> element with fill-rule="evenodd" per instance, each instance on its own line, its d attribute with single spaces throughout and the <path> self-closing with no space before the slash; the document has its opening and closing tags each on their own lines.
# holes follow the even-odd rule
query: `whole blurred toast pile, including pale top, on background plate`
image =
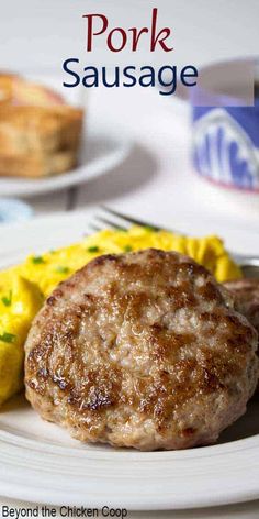
<svg viewBox="0 0 259 519">
<path fill-rule="evenodd" d="M 38 178 L 74 167 L 82 119 L 49 88 L 0 74 L 0 176 Z"/>
</svg>

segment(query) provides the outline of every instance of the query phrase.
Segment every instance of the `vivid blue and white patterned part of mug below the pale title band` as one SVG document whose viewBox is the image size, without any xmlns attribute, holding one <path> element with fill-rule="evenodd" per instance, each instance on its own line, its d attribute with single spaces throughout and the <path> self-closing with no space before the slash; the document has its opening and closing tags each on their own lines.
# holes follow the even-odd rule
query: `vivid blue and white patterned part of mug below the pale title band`
<svg viewBox="0 0 259 519">
<path fill-rule="evenodd" d="M 227 186 L 258 190 L 258 106 L 194 107 L 193 119 L 193 161 L 198 172 Z"/>
</svg>

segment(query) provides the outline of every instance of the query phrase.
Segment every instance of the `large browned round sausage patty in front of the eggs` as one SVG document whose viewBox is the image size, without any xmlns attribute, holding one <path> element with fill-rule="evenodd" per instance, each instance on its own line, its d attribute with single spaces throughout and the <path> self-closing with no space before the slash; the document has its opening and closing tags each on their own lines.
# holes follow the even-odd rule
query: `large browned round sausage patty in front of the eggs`
<svg viewBox="0 0 259 519">
<path fill-rule="evenodd" d="M 34 320 L 26 397 L 86 442 L 140 450 L 214 442 L 258 378 L 258 336 L 228 291 L 173 252 L 100 256 Z"/>
</svg>

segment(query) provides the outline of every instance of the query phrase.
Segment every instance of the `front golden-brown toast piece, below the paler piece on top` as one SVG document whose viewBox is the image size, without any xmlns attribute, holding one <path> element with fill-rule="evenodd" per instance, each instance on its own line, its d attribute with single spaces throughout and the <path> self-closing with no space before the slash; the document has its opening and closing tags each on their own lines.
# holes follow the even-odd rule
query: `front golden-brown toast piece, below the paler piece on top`
<svg viewBox="0 0 259 519">
<path fill-rule="evenodd" d="M 41 177 L 74 167 L 82 110 L 59 104 L 0 107 L 0 175 Z"/>
</svg>

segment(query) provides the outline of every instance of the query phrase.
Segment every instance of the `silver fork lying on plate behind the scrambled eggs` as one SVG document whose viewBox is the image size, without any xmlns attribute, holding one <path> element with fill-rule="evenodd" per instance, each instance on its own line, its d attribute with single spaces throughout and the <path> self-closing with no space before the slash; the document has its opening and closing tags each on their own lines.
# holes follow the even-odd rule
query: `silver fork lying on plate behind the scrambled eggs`
<svg viewBox="0 0 259 519">
<path fill-rule="evenodd" d="M 151 222 L 130 217 L 128 214 L 115 211 L 114 209 L 111 209 L 106 206 L 101 206 L 101 209 L 104 216 L 100 214 L 95 217 L 94 222 L 90 224 L 93 231 L 101 231 L 103 229 L 103 225 L 109 227 L 111 229 L 121 229 L 123 231 L 126 231 L 132 224 L 136 224 L 151 228 L 155 231 L 164 229 L 165 231 L 182 234 L 176 229 L 168 229 L 165 227 L 160 228 Z M 259 278 L 259 256 L 237 254 L 233 251 L 229 251 L 229 254 L 232 255 L 234 261 L 239 264 L 245 277 Z"/>
</svg>

